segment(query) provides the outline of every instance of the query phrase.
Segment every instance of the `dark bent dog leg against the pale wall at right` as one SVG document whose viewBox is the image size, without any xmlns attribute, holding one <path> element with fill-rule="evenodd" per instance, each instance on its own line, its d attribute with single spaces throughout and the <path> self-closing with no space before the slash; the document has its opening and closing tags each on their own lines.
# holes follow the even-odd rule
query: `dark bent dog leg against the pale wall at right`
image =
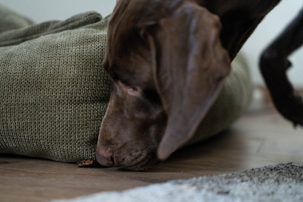
<svg viewBox="0 0 303 202">
<path fill-rule="evenodd" d="M 282 34 L 264 51 L 260 69 L 278 111 L 294 125 L 303 125 L 302 97 L 286 76 L 287 56 L 303 44 L 303 9 Z"/>
</svg>

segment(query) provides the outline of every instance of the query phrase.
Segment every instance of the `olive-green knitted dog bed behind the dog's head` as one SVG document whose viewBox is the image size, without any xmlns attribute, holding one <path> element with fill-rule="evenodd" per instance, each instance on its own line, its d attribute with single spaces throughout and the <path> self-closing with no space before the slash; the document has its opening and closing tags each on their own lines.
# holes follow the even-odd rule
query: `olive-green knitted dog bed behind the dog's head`
<svg viewBox="0 0 303 202">
<path fill-rule="evenodd" d="M 110 17 L 86 12 L 29 25 L 0 6 L 4 12 L 11 18 L 0 15 L 0 25 L 8 25 L 0 32 L 0 153 L 94 160 L 111 90 L 102 68 Z M 227 128 L 250 93 L 246 65 L 238 62 L 191 143 Z"/>
</svg>

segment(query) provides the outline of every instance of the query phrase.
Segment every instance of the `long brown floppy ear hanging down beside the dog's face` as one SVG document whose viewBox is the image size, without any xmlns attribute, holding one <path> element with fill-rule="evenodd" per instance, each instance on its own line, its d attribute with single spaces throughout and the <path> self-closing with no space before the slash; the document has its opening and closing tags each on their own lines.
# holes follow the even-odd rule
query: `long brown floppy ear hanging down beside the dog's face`
<svg viewBox="0 0 303 202">
<path fill-rule="evenodd" d="M 157 151 L 161 160 L 194 135 L 230 72 L 220 32 L 218 16 L 188 3 L 147 34 L 155 86 L 168 115 Z"/>
</svg>

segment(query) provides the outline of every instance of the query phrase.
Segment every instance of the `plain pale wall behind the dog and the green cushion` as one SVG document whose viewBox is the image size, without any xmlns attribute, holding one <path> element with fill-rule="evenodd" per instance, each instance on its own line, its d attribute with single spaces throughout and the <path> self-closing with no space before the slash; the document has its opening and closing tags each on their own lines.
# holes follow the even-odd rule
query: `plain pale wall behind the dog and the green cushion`
<svg viewBox="0 0 303 202">
<path fill-rule="evenodd" d="M 95 10 L 106 16 L 112 12 L 115 2 L 116 0 L 0 0 L 1 4 L 34 19 L 36 22 L 54 19 L 63 20 L 77 13 L 90 10 Z M 294 18 L 302 7 L 302 0 L 283 0 L 269 13 L 245 43 L 242 51 L 251 66 L 255 84 L 263 84 L 258 70 L 261 51 Z M 296 87 L 303 88 L 303 48 L 291 55 L 290 60 L 294 68 L 289 71 L 288 75 Z"/>
</svg>

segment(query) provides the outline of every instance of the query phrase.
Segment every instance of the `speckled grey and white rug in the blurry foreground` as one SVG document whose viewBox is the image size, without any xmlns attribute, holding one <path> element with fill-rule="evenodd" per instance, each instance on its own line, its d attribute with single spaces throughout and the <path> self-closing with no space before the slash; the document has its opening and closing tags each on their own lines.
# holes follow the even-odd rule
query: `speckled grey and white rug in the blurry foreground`
<svg viewBox="0 0 303 202">
<path fill-rule="evenodd" d="M 95 201 L 303 201 L 303 167 L 292 163 L 189 180 L 102 192 L 72 200 Z M 53 201 L 55 202 L 55 201 Z"/>
</svg>

